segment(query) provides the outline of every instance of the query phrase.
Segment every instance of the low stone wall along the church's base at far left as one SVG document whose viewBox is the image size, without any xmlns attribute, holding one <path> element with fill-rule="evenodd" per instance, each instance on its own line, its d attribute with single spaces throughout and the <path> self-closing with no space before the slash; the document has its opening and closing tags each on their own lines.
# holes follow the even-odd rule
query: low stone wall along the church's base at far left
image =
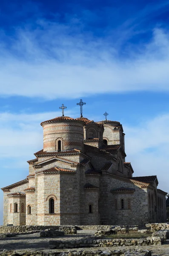
<svg viewBox="0 0 169 256">
<path fill-rule="evenodd" d="M 0 233 L 37 233 L 41 230 L 52 228 L 53 230 L 63 230 L 66 235 L 77 234 L 75 226 L 0 226 Z"/>
</svg>

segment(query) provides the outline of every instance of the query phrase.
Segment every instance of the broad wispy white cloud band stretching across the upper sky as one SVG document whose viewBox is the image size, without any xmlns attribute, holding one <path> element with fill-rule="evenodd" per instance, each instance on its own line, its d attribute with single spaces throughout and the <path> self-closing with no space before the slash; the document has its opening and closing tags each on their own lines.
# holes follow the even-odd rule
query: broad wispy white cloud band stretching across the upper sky
<svg viewBox="0 0 169 256">
<path fill-rule="evenodd" d="M 17 32 L 10 49 L 0 46 L 0 94 L 45 99 L 139 90 L 169 91 L 169 34 L 118 56 L 114 43 L 69 34 L 70 26 L 39 21 L 41 29 Z M 12 39 L 11 39 L 12 40 Z"/>
</svg>

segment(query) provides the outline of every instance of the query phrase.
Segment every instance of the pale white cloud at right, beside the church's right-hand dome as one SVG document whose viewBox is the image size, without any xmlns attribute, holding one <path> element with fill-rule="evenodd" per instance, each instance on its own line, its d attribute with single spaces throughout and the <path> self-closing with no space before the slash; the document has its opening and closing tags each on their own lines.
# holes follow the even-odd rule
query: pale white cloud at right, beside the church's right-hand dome
<svg viewBox="0 0 169 256">
<path fill-rule="evenodd" d="M 159 188 L 168 192 L 169 114 L 157 116 L 137 127 L 124 125 L 126 160 L 132 163 L 134 176 L 157 175 Z"/>
</svg>

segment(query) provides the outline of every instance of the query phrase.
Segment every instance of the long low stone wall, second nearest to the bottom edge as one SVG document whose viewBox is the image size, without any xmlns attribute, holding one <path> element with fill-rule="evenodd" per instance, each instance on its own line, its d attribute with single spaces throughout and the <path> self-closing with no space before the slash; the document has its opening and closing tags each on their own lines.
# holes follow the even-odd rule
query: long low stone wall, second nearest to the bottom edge
<svg viewBox="0 0 169 256">
<path fill-rule="evenodd" d="M 145 239 L 77 239 L 77 240 L 52 240 L 49 241 L 49 248 L 51 249 L 66 249 L 79 247 L 113 247 L 113 246 L 144 246 L 152 244 L 162 244 L 163 237 L 148 237 Z"/>
</svg>

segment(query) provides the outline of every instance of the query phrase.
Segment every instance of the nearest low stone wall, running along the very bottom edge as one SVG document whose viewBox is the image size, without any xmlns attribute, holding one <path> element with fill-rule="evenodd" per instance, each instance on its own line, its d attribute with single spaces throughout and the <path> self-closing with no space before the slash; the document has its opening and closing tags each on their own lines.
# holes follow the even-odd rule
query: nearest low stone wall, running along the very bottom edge
<svg viewBox="0 0 169 256">
<path fill-rule="evenodd" d="M 11 251 L 6 251 L 0 254 L 1 256 L 11 256 Z M 17 256 L 151 256 L 152 253 L 149 250 L 56 250 L 56 251 L 25 251 L 25 252 L 13 252 L 12 255 Z"/>
</svg>

